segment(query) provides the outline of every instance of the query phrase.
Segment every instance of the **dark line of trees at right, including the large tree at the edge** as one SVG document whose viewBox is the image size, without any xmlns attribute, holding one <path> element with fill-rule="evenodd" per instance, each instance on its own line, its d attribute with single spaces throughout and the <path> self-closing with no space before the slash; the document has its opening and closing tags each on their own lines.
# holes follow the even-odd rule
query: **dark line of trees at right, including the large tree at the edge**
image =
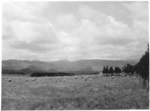
<svg viewBox="0 0 150 111">
<path fill-rule="evenodd" d="M 136 74 L 142 78 L 144 86 L 149 86 L 149 45 L 147 45 L 147 50 L 136 65 L 127 64 L 121 68 L 104 66 L 102 73 L 106 76 L 120 75 L 123 73 L 125 76 L 133 76 Z"/>
</svg>

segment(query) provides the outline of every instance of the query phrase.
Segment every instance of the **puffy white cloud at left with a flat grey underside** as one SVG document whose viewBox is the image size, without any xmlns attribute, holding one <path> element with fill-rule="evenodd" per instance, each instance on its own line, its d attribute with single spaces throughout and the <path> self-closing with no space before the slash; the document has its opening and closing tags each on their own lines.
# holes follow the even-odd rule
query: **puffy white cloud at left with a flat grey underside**
<svg viewBox="0 0 150 111">
<path fill-rule="evenodd" d="M 46 51 L 57 42 L 53 27 L 44 23 L 14 21 L 10 33 L 12 40 L 9 44 L 21 50 Z"/>
</svg>

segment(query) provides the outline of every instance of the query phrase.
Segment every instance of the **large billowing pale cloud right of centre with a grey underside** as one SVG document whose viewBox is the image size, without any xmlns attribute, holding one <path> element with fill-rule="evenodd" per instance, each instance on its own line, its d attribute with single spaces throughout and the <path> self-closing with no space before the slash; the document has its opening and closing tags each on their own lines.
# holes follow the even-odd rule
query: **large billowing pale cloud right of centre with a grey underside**
<svg viewBox="0 0 150 111">
<path fill-rule="evenodd" d="M 87 11 L 89 12 L 90 9 Z M 92 9 L 94 13 L 94 10 Z M 95 13 L 98 13 L 97 11 Z M 99 14 L 101 14 L 99 12 Z M 101 14 L 104 17 L 104 14 Z M 95 18 L 95 16 L 92 16 Z M 132 42 L 132 38 L 128 36 L 131 32 L 130 28 L 120 22 L 116 21 L 112 16 L 104 17 L 103 24 L 99 25 L 96 21 L 91 21 L 89 18 L 83 18 L 81 20 L 81 25 L 77 30 L 73 32 L 72 35 L 79 36 L 83 41 L 95 43 L 95 44 L 113 44 L 118 45 L 122 41 L 125 43 Z M 92 18 L 91 18 L 92 19 Z M 101 18 L 99 18 L 101 20 Z M 115 43 L 115 44 L 114 44 Z M 92 45 L 92 44 L 91 44 Z M 121 45 L 121 44 L 120 44 Z"/>
</svg>

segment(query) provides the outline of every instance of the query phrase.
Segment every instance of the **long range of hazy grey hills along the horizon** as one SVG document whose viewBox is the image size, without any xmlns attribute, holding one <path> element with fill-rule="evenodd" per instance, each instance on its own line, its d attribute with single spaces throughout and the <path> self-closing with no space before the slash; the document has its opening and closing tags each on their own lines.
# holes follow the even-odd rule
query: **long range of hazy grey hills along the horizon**
<svg viewBox="0 0 150 111">
<path fill-rule="evenodd" d="M 124 66 L 125 64 L 135 65 L 137 61 L 125 60 L 59 60 L 53 62 L 28 61 L 28 60 L 3 60 L 2 70 L 15 70 L 24 73 L 49 72 L 49 71 L 101 71 L 103 66 Z"/>
</svg>

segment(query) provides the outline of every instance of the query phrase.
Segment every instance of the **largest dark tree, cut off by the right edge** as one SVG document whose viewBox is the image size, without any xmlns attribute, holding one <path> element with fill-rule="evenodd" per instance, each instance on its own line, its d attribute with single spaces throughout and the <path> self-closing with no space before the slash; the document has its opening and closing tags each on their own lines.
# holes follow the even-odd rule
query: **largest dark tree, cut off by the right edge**
<svg viewBox="0 0 150 111">
<path fill-rule="evenodd" d="M 135 65 L 135 72 L 143 79 L 143 85 L 149 85 L 149 45 L 147 51 Z"/>
</svg>

